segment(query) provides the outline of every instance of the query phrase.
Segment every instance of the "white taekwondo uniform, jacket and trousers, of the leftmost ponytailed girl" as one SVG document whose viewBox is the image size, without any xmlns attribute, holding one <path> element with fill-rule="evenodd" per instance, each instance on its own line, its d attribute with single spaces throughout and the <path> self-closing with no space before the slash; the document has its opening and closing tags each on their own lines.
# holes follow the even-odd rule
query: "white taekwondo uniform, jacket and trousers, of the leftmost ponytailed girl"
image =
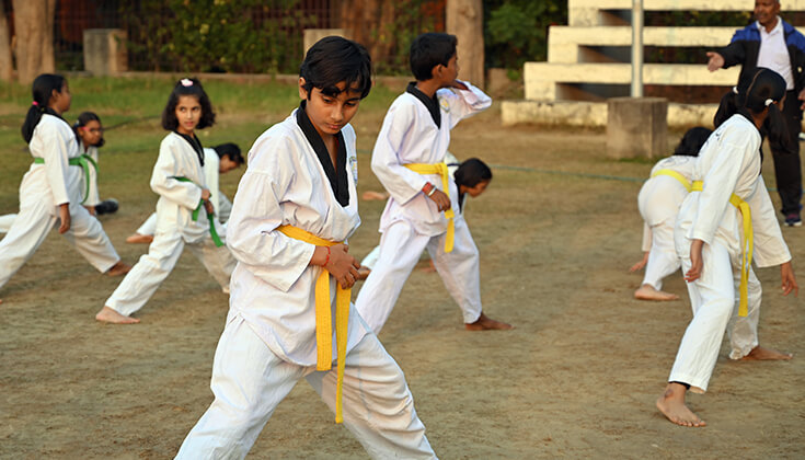
<svg viewBox="0 0 805 460">
<path fill-rule="evenodd" d="M 120 257 L 101 222 L 81 206 L 84 170 L 71 164 L 81 157 L 72 128 L 58 116 L 43 114 L 28 148 L 35 162 L 20 184 L 20 214 L 0 241 L 0 287 L 45 241 L 59 220 L 58 206 L 65 203 L 70 209 L 65 238 L 99 272 L 107 272 Z"/>
</svg>

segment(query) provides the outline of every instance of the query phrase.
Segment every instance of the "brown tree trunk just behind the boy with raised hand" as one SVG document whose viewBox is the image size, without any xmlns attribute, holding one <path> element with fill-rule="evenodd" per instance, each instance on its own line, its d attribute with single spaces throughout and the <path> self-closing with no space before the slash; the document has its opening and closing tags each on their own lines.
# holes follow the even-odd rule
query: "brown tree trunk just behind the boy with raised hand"
<svg viewBox="0 0 805 460">
<path fill-rule="evenodd" d="M 459 39 L 459 79 L 484 88 L 483 4 L 481 0 L 447 0 L 447 33 Z"/>
</svg>

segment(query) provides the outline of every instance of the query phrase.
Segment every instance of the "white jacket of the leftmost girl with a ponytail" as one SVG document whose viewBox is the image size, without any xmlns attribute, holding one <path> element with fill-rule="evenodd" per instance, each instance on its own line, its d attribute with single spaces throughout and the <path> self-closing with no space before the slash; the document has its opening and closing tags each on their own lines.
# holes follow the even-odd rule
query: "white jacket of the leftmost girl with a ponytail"
<svg viewBox="0 0 805 460">
<path fill-rule="evenodd" d="M 44 114 L 34 128 L 28 143 L 34 158 L 42 158 L 45 164 L 31 164 L 20 184 L 20 208 L 23 203 L 49 200 L 53 215 L 58 216 L 57 206 L 69 203 L 81 204 L 83 194 L 83 169 L 69 165 L 71 158 L 81 154 L 76 135 L 64 119 Z"/>
</svg>

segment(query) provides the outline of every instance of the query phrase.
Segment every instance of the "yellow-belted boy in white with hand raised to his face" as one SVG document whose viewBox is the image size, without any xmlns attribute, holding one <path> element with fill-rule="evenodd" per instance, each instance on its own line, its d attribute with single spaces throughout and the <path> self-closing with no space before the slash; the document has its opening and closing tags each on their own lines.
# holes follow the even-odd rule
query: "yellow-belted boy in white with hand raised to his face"
<svg viewBox="0 0 805 460">
<path fill-rule="evenodd" d="M 458 191 L 444 163 L 450 129 L 492 105 L 481 90 L 456 79 L 456 44 L 453 35 L 440 33 L 411 44 L 416 82 L 391 104 L 375 143 L 371 169 L 390 198 L 380 218 L 380 254 L 355 306 L 376 334 L 425 249 L 452 297 L 461 299 L 468 330 L 511 329 L 483 313 L 478 250 L 462 219 L 453 221 Z"/>
</svg>

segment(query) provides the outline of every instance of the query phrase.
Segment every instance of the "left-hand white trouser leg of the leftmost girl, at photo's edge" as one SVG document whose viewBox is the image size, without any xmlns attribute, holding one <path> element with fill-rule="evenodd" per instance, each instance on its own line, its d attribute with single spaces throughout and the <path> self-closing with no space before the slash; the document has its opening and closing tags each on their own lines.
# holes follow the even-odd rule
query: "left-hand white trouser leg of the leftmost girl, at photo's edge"
<svg viewBox="0 0 805 460">
<path fill-rule="evenodd" d="M 20 209 L 14 223 L 0 241 L 0 287 L 34 255 L 57 221 L 50 205 L 36 203 Z"/>
</svg>

